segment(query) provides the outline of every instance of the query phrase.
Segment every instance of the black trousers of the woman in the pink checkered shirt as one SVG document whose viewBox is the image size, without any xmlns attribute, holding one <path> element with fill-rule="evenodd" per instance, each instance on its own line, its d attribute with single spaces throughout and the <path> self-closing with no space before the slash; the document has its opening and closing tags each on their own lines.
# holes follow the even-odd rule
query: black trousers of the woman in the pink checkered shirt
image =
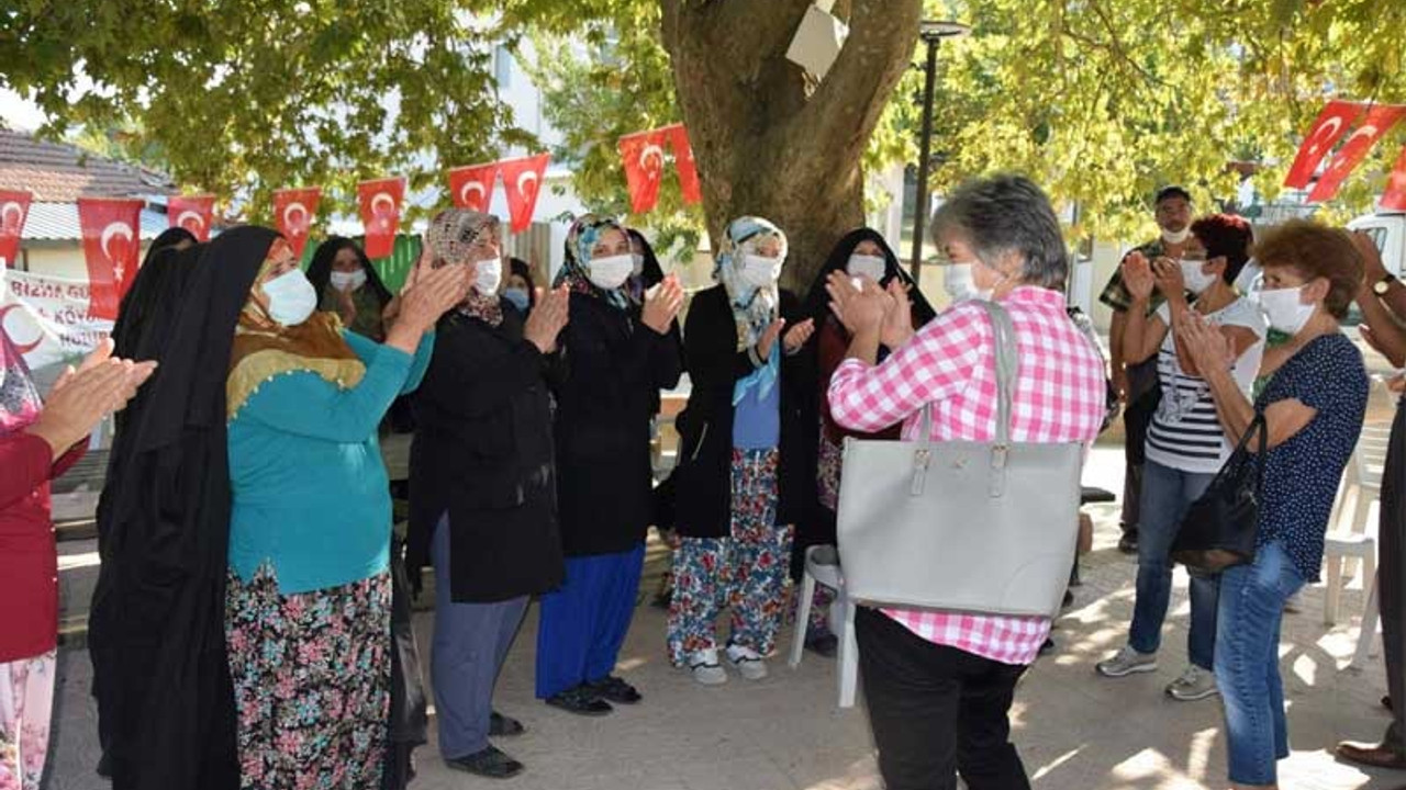
<svg viewBox="0 0 1406 790">
<path fill-rule="evenodd" d="M 859 675 L 887 790 L 1028 790 L 1008 713 L 1025 666 L 935 645 L 883 613 L 855 614 Z"/>
</svg>

